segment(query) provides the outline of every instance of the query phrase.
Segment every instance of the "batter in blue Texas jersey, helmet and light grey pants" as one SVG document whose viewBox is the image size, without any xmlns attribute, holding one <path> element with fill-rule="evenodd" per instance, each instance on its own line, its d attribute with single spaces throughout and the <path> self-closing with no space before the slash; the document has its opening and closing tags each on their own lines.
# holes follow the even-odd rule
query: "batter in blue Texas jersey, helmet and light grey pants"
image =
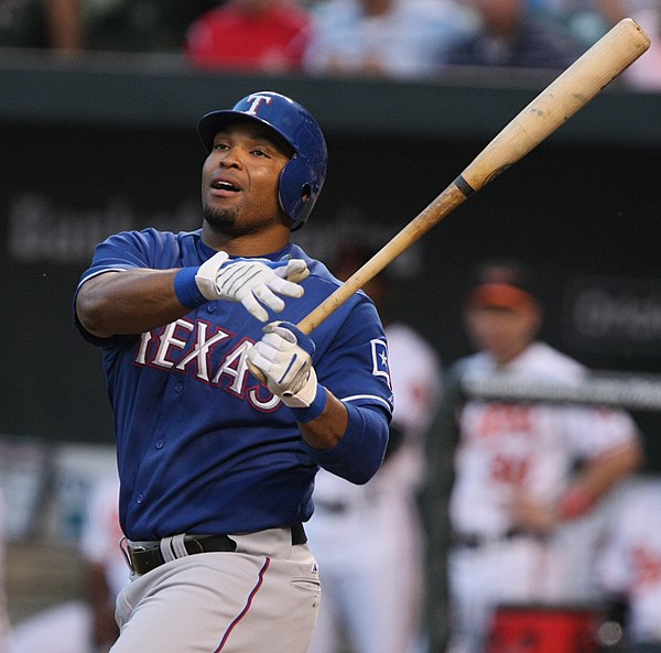
<svg viewBox="0 0 661 653">
<path fill-rule="evenodd" d="M 314 477 L 364 483 L 379 468 L 387 342 L 359 294 L 312 337 L 294 326 L 339 284 L 291 242 L 326 174 L 308 111 L 259 91 L 198 132 L 202 228 L 109 237 L 75 294 L 104 353 L 133 570 L 111 651 L 305 653 Z"/>
</svg>

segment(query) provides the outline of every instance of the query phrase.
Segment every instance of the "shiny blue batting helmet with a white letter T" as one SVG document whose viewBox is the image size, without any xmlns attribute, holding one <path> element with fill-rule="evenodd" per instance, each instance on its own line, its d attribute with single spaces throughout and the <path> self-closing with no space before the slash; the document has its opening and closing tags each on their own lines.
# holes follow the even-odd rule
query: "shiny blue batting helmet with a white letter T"
<svg viewBox="0 0 661 653">
<path fill-rule="evenodd" d="M 292 230 L 303 227 L 326 178 L 328 153 L 319 126 L 294 100 L 261 90 L 246 96 L 231 110 L 212 111 L 199 119 L 197 131 L 207 152 L 216 133 L 238 117 L 267 124 L 294 150 L 280 175 L 278 194 L 282 210 L 294 221 Z"/>
</svg>

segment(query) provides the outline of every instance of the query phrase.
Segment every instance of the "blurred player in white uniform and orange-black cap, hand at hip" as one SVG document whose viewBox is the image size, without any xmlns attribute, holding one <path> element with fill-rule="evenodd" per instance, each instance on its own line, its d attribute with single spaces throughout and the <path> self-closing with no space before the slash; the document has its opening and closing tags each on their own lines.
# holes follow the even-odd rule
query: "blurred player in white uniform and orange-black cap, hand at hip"
<svg viewBox="0 0 661 653">
<path fill-rule="evenodd" d="M 530 382 L 581 383 L 585 370 L 579 363 L 535 341 L 541 319 L 528 271 L 511 262 L 485 265 L 466 305 L 478 352 L 455 363 L 452 377 L 500 373 Z M 456 383 L 448 380 L 448 387 Z M 440 450 L 434 443 L 456 438 L 449 651 L 480 653 L 498 605 L 586 598 L 574 563 L 585 563 L 582 547 L 589 541 L 573 529 L 639 465 L 639 436 L 619 411 L 457 400 L 449 392 L 445 401 L 440 415 L 449 421 L 440 418 L 430 438 L 427 491 L 445 482 L 434 476 L 436 468 L 444 469 L 434 457 Z M 443 500 L 437 496 L 437 504 Z"/>
</svg>

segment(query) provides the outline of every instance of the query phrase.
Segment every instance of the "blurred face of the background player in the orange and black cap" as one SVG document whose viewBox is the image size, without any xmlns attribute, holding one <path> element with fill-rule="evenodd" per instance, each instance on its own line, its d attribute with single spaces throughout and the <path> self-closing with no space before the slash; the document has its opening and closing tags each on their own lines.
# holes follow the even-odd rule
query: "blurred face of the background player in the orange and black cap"
<svg viewBox="0 0 661 653">
<path fill-rule="evenodd" d="M 540 326 L 539 308 L 530 303 L 510 308 L 473 307 L 466 315 L 468 331 L 478 349 L 505 364 L 534 339 Z"/>
</svg>

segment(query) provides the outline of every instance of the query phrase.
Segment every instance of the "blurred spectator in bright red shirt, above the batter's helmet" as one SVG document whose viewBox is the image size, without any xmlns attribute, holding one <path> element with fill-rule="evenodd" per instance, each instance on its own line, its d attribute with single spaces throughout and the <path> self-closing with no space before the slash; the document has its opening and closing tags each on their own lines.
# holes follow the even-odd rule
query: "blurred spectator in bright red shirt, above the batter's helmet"
<svg viewBox="0 0 661 653">
<path fill-rule="evenodd" d="M 301 67 L 310 12 L 294 0 L 230 0 L 186 32 L 185 55 L 198 68 L 280 73 Z"/>
</svg>

